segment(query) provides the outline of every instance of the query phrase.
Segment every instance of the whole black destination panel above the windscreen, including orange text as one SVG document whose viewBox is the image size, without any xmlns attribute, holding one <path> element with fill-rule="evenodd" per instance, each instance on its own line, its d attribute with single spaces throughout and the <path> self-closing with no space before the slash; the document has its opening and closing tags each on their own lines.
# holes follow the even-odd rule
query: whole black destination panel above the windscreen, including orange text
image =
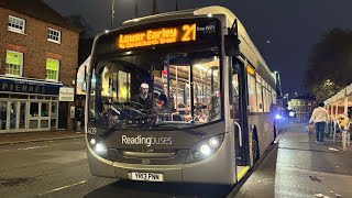
<svg viewBox="0 0 352 198">
<path fill-rule="evenodd" d="M 96 54 L 219 44 L 220 21 L 215 18 L 162 21 L 122 28 L 99 37 Z"/>
</svg>

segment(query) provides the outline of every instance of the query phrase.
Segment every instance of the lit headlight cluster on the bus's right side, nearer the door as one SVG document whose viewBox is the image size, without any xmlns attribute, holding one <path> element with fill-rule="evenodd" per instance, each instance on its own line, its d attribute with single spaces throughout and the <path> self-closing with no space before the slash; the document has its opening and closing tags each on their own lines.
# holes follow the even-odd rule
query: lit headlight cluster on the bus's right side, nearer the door
<svg viewBox="0 0 352 198">
<path fill-rule="evenodd" d="M 223 141 L 223 134 L 206 139 L 195 144 L 187 156 L 186 163 L 195 163 L 215 154 Z"/>
</svg>

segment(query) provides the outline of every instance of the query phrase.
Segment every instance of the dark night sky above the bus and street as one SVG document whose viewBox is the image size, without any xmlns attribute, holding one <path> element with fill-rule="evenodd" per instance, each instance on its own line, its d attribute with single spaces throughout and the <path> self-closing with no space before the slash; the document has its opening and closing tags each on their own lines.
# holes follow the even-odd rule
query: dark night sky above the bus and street
<svg viewBox="0 0 352 198">
<path fill-rule="evenodd" d="M 96 32 L 110 29 L 111 0 L 44 0 L 63 15 L 79 14 Z M 116 0 L 116 24 L 133 18 L 135 0 Z M 138 0 L 139 15 L 152 12 L 152 0 Z M 351 0 L 178 0 L 179 9 L 223 6 L 232 10 L 272 70 L 283 91 L 305 94 L 302 86 L 312 45 L 333 28 L 352 26 Z M 175 0 L 158 0 L 160 12 L 175 10 Z"/>
</svg>

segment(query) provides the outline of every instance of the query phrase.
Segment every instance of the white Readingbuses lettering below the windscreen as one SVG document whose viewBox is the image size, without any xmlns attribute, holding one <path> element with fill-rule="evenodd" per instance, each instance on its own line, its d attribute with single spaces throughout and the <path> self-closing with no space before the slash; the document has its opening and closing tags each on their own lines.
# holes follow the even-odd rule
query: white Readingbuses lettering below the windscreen
<svg viewBox="0 0 352 198">
<path fill-rule="evenodd" d="M 122 135 L 122 144 L 128 144 L 128 145 L 145 145 L 150 147 L 151 145 L 168 145 L 173 144 L 172 138 L 155 138 L 153 135 L 150 136 L 127 136 Z"/>
</svg>

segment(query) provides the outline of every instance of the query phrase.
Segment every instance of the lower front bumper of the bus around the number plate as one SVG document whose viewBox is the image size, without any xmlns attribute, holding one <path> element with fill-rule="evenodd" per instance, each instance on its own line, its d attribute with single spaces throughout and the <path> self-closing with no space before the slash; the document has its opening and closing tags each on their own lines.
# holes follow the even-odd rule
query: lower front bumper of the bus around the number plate
<svg viewBox="0 0 352 198">
<path fill-rule="evenodd" d="M 132 179 L 132 172 L 163 174 L 163 182 L 208 183 L 233 185 L 237 183 L 233 148 L 224 139 L 221 147 L 209 158 L 197 163 L 177 165 L 125 164 L 103 160 L 92 150 L 88 152 L 90 172 L 95 176 Z"/>
</svg>

